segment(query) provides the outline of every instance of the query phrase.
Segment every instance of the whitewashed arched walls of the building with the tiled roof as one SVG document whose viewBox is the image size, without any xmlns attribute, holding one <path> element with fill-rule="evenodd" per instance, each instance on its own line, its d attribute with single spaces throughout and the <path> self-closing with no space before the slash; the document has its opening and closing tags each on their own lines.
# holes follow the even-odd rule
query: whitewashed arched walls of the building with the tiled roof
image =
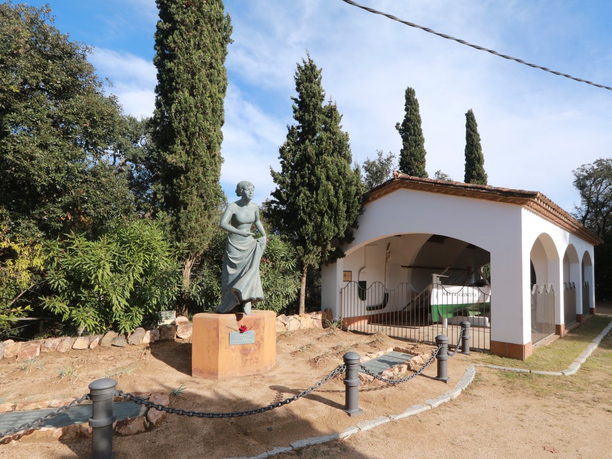
<svg viewBox="0 0 612 459">
<path fill-rule="evenodd" d="M 405 282 L 401 277 L 409 273 L 403 274 L 394 263 L 416 264 L 415 257 L 431 234 L 472 243 L 490 252 L 491 339 L 500 342 L 525 344 L 531 341 L 530 254 L 535 257 L 537 282 L 553 284 L 555 292 L 561 292 L 556 298 L 561 299 L 562 260 L 567 247 L 572 245 L 569 277 L 576 282 L 577 288 L 581 285 L 580 263 L 584 254 L 593 259 L 591 244 L 519 205 L 398 189 L 366 205 L 359 218 L 355 240 L 345 247 L 346 257 L 333 265 L 323 266 L 322 309 L 329 307 L 335 317 L 340 317 L 340 289 L 346 285 L 342 272 L 352 271 L 353 281 L 357 281 L 357 273 L 364 266 L 364 255 L 368 285 L 384 282 L 384 257 L 389 241 L 392 269 L 388 284 Z M 465 262 L 469 262 L 468 254 L 461 254 L 459 247 L 456 249 L 466 257 Z M 476 265 L 477 260 L 473 263 Z M 590 277 L 585 274 L 585 278 L 591 279 L 592 285 L 592 263 L 586 266 L 586 271 Z M 581 294 L 578 292 L 577 310 L 580 307 Z M 562 323 L 562 301 L 556 301 L 556 309 L 557 323 Z"/>
</svg>

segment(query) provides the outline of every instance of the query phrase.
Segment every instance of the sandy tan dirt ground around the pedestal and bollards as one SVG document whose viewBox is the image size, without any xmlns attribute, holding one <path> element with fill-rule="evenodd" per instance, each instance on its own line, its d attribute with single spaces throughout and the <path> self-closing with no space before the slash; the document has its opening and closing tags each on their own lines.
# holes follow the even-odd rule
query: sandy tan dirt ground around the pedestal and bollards
<svg viewBox="0 0 612 459">
<path fill-rule="evenodd" d="M 612 308 L 602 312 L 610 313 Z M 41 354 L 32 365 L 3 359 L 0 400 L 76 398 L 88 392 L 91 381 L 112 377 L 124 392 L 170 393 L 183 387 L 180 395 L 171 396 L 171 405 L 176 408 L 242 411 L 283 400 L 312 386 L 340 364 L 341 356 L 349 350 L 365 354 L 406 344 L 384 335 L 332 329 L 280 333 L 274 369 L 265 375 L 220 381 L 192 378 L 190 343 L 157 342 L 48 353 Z M 351 418 L 341 410 L 345 387 L 338 377 L 312 394 L 267 413 L 233 419 L 168 415 L 162 425 L 147 433 L 114 436 L 113 449 L 118 458 L 252 457 L 299 439 L 341 432 L 363 420 L 398 414 L 436 398 L 454 387 L 477 358 L 478 354 L 472 353 L 450 359 L 449 384 L 433 379 L 435 363 L 409 383 L 364 384 L 359 392 L 359 406 L 365 411 L 362 417 Z M 612 340 L 608 337 L 578 374 L 567 378 L 477 367 L 474 382 L 452 402 L 343 440 L 276 457 L 611 457 L 610 358 Z M 0 445 L 1 458 L 90 454 L 89 439 Z"/>
</svg>

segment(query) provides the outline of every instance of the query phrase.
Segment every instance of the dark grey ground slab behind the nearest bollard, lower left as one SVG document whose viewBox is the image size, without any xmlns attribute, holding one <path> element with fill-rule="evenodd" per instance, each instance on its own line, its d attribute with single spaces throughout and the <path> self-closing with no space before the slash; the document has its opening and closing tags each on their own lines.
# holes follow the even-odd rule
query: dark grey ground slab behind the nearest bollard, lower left
<svg viewBox="0 0 612 459">
<path fill-rule="evenodd" d="M 57 411 L 57 408 L 31 409 L 29 411 L 10 411 L 9 413 L 0 413 L 0 431 L 7 431 L 12 428 L 19 427 L 26 422 L 38 417 L 47 416 L 52 411 Z M 114 402 L 113 414 L 118 420 L 127 417 L 137 417 L 140 413 L 140 405 L 134 402 Z M 58 414 L 56 417 L 46 420 L 41 427 L 65 427 L 72 424 L 81 424 L 89 422 L 91 417 L 91 404 L 72 406 L 64 413 Z"/>
</svg>

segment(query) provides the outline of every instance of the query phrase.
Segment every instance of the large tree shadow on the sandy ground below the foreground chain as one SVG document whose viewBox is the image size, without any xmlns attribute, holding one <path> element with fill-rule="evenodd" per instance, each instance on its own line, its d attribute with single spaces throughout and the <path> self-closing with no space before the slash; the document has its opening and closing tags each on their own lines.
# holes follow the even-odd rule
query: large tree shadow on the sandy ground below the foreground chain
<svg viewBox="0 0 612 459">
<path fill-rule="evenodd" d="M 165 387 L 166 393 L 173 388 Z M 291 393 L 293 389 L 278 386 L 279 391 Z M 206 413 L 231 413 L 259 408 L 247 398 L 219 394 L 208 391 L 207 394 L 196 394 L 185 391 L 181 397 L 171 397 L 170 405 L 190 411 Z M 312 398 L 334 409 L 338 403 L 330 402 L 324 397 Z M 296 400 L 294 403 L 304 403 Z M 293 405 L 293 404 L 292 404 Z M 303 408 L 303 407 L 302 407 Z M 301 439 L 331 435 L 332 431 L 320 430 L 310 420 L 299 415 L 300 409 L 280 408 L 264 413 L 241 417 L 223 417 L 218 419 L 200 419 L 198 417 L 167 414 L 166 419 L 149 431 L 130 436 L 113 436 L 113 450 L 116 458 L 148 459 L 151 457 L 254 457 L 270 452 L 277 447 L 289 447 L 292 442 Z M 61 441 L 74 453 L 72 455 L 54 455 L 53 457 L 89 457 L 91 439 Z M 343 448 L 344 449 L 344 448 Z M 367 459 L 367 456 L 354 450 L 350 445 L 345 448 L 348 457 Z M 296 452 L 300 455 L 300 452 Z M 29 457 L 45 457 L 30 455 Z"/>
</svg>

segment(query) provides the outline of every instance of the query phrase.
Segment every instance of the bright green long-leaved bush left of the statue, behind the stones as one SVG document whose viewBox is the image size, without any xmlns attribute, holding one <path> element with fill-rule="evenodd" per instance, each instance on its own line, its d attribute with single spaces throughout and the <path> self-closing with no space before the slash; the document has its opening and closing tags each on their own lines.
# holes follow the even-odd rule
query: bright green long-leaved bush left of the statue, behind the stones
<svg viewBox="0 0 612 459">
<path fill-rule="evenodd" d="M 43 307 L 91 333 L 132 331 L 146 315 L 173 307 L 181 265 L 159 224 L 130 222 L 97 240 L 82 233 L 49 245 Z"/>
</svg>

